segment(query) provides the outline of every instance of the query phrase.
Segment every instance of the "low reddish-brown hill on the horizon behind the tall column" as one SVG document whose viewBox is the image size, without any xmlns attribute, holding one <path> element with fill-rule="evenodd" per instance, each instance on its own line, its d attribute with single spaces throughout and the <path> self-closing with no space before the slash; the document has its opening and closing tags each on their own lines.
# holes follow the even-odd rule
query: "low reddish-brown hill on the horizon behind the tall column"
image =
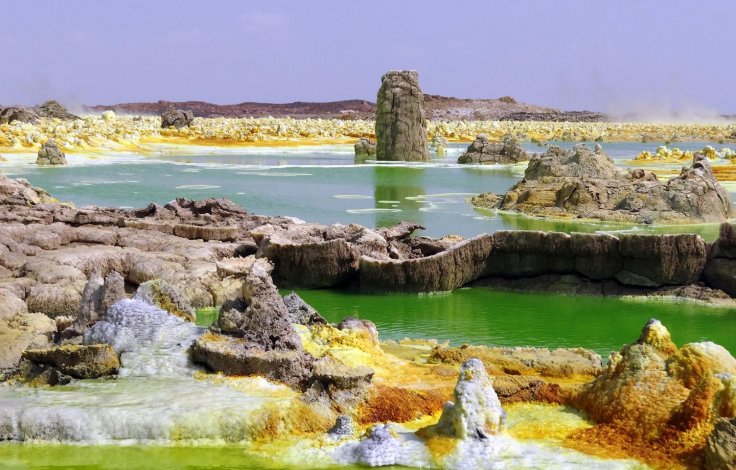
<svg viewBox="0 0 736 470">
<path fill-rule="evenodd" d="M 424 95 L 427 117 L 438 121 L 451 120 L 521 120 L 521 121 L 607 121 L 608 116 L 591 111 L 560 111 L 526 103 L 506 96 L 498 99 L 467 99 Z M 157 101 L 155 103 L 120 103 L 87 106 L 91 112 L 108 109 L 122 114 L 158 115 L 169 107 L 191 111 L 198 117 L 286 117 L 373 119 L 376 104 L 366 100 L 343 100 L 325 103 L 296 101 L 294 103 L 213 104 L 204 101 Z"/>
</svg>

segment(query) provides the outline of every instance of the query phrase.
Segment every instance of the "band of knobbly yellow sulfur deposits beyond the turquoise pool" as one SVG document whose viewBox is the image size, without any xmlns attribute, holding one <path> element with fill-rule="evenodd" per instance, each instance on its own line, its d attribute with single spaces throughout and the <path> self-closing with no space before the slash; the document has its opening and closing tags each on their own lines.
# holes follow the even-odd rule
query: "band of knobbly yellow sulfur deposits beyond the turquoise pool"
<svg viewBox="0 0 736 470">
<path fill-rule="evenodd" d="M 672 141 L 675 138 L 678 141 L 724 142 L 732 139 L 734 133 L 733 126 L 729 124 L 637 122 L 429 121 L 427 130 L 430 138 L 442 136 L 455 142 L 472 141 L 484 133 L 491 140 L 511 135 L 538 143 L 556 140 L 648 142 Z M 375 138 L 373 121 L 288 117 L 195 118 L 190 127 L 162 129 L 158 116 L 123 116 L 105 111 L 102 116 L 85 116 L 76 120 L 41 118 L 37 124 L 18 121 L 3 124 L 0 126 L 0 151 L 37 151 L 48 139 L 54 139 L 62 150 L 68 152 L 146 153 L 161 144 L 283 146 L 352 143 L 360 137 Z"/>
</svg>

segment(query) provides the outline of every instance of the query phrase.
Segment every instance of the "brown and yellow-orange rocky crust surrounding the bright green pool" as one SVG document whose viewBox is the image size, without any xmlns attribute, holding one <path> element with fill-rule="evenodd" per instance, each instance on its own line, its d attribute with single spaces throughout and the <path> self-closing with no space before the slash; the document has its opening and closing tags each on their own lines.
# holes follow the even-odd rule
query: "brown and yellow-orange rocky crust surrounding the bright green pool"
<svg viewBox="0 0 736 470">
<path fill-rule="evenodd" d="M 531 402 L 574 406 L 594 420 L 564 436 L 565 447 L 662 468 L 733 465 L 736 360 L 712 343 L 677 348 L 656 321 L 603 367 L 581 349 L 380 343 L 371 322 L 329 324 L 277 290 L 437 291 L 567 275 L 725 301 L 715 289 L 736 295 L 729 224 L 712 245 L 697 235 L 429 239 L 410 237 L 411 224 L 307 224 L 226 200 L 75 209 L 7 178 L 0 208 L 0 368 L 25 384 L 17 386 L 135 374 L 126 354 L 166 332 L 208 371 L 291 387 L 299 399 L 267 418 L 279 431 L 264 429 L 274 439 L 352 439 L 340 447 L 345 462 L 406 463 L 417 442 L 427 465 L 473 462 L 504 439 L 504 407 Z M 202 334 L 187 325 L 205 306 L 221 308 Z M 387 422 L 426 424 L 407 434 Z M 0 439 L 39 438 L 33 432 L 0 426 Z"/>
</svg>

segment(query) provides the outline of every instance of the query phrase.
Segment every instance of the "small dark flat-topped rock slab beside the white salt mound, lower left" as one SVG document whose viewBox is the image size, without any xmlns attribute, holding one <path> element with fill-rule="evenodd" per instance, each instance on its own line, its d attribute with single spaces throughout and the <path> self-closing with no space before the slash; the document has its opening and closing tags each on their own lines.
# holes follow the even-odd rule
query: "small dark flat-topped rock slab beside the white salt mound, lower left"
<svg viewBox="0 0 736 470">
<path fill-rule="evenodd" d="M 96 379 L 120 370 L 118 355 L 109 344 L 66 345 L 49 349 L 28 349 L 23 358 L 57 369 L 75 379 Z"/>
</svg>

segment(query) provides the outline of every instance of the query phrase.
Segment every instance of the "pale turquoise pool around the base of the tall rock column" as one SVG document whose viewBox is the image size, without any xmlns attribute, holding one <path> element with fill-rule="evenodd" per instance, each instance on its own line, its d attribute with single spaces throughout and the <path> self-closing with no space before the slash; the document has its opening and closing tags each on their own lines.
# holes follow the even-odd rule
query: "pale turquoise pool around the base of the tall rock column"
<svg viewBox="0 0 736 470">
<path fill-rule="evenodd" d="M 541 151 L 525 144 L 529 151 Z M 571 146 L 571 143 L 560 143 Z M 605 143 L 622 163 L 660 143 Z M 700 149 L 703 143 L 677 144 Z M 713 144 L 716 148 L 722 145 Z M 228 197 L 251 212 L 289 215 L 310 222 L 359 223 L 382 227 L 401 220 L 427 227 L 425 234 L 474 236 L 502 229 L 559 231 L 652 230 L 612 224 L 546 221 L 497 214 L 471 207 L 468 199 L 482 192 L 505 192 L 522 177 L 520 165 L 463 166 L 454 162 L 465 145 L 429 164 L 377 164 L 356 160 L 352 146 L 255 148 L 185 156 L 105 157 L 71 155 L 64 168 L 38 168 L 33 158 L 0 163 L 0 171 L 24 177 L 55 197 L 77 206 L 143 207 L 175 197 Z M 678 167 L 679 164 L 669 165 Z M 695 231 L 707 239 L 717 225 L 659 227 L 656 231 Z"/>
</svg>

